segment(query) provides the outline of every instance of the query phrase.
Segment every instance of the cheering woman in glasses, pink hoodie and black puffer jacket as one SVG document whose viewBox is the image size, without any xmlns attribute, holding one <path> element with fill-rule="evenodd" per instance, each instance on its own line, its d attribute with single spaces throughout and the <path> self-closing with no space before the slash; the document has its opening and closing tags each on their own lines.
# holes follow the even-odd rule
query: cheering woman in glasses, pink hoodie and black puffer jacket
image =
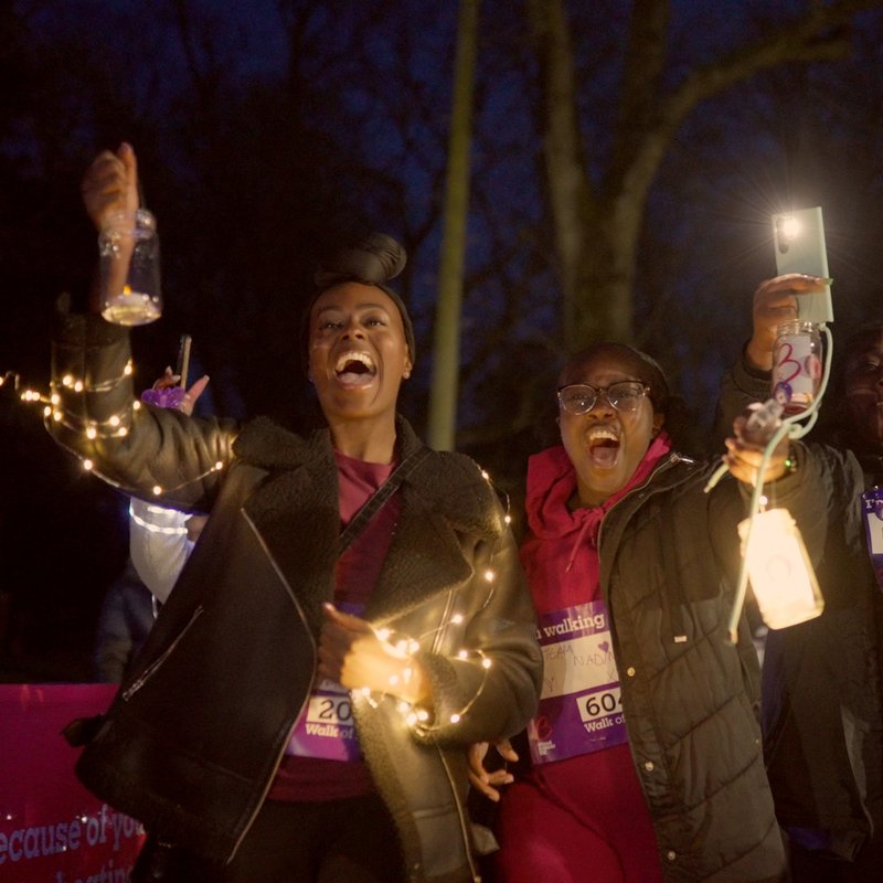
<svg viewBox="0 0 883 883">
<path fill-rule="evenodd" d="M 738 482 L 704 492 L 714 465 L 673 448 L 678 402 L 643 353 L 593 345 L 560 383 L 562 445 L 531 458 L 522 546 L 544 683 L 531 772 L 500 808 L 499 877 L 779 880 L 757 659 L 744 624 L 736 646 L 726 631 Z M 759 449 L 727 449 L 751 481 Z M 767 474 L 796 517 L 819 468 L 799 454 L 799 469 L 778 454 Z M 808 546 L 825 529 L 800 526 Z"/>
</svg>

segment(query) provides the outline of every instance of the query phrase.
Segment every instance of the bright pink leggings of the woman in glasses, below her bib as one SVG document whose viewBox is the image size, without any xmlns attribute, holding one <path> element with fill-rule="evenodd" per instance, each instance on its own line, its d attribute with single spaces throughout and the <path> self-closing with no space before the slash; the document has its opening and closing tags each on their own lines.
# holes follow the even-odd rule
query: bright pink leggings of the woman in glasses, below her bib
<svg viewBox="0 0 883 883">
<path fill-rule="evenodd" d="M 585 798 L 591 804 L 589 795 Z M 600 832 L 587 817 L 543 794 L 530 780 L 510 785 L 500 806 L 498 883 L 661 883 L 647 813 L 605 817 Z M 582 815 L 582 813 L 581 813 Z"/>
</svg>

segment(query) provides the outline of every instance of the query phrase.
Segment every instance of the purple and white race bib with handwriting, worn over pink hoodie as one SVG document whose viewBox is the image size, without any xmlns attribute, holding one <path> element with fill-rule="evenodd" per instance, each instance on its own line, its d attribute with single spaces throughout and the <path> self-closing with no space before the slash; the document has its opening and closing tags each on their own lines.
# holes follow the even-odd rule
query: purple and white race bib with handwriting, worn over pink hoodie
<svg viewBox="0 0 883 883">
<path fill-rule="evenodd" d="M 589 754 L 628 740 L 607 607 L 578 604 L 539 617 L 543 691 L 528 724 L 534 764 Z"/>
</svg>

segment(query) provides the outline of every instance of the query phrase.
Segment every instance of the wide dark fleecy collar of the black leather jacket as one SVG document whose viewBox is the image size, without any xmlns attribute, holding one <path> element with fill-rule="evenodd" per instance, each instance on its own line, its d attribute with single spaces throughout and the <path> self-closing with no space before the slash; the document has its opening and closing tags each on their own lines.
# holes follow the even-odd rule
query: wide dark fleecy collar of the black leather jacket
<svg viewBox="0 0 883 883">
<path fill-rule="evenodd" d="M 396 438 L 400 459 L 423 444 L 402 417 Z M 321 604 L 333 597 L 340 532 L 330 432 L 323 428 L 305 438 L 258 418 L 243 428 L 234 451 L 267 472 L 245 510 L 318 631 Z M 403 482 L 401 492 L 402 515 L 381 585 L 371 598 L 372 618 L 406 609 L 468 579 L 460 533 L 493 539 L 504 530 L 500 507 L 478 466 L 461 455 L 434 451 Z"/>
</svg>

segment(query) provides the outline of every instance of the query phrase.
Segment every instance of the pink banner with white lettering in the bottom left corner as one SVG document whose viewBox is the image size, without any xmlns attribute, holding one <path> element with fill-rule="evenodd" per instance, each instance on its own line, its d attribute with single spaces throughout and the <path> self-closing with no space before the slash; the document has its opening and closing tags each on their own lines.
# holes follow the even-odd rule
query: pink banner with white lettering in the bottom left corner
<svg viewBox="0 0 883 883">
<path fill-rule="evenodd" d="M 74 776 L 61 735 L 116 684 L 0 684 L 0 883 L 125 883 L 143 828 Z"/>
</svg>

